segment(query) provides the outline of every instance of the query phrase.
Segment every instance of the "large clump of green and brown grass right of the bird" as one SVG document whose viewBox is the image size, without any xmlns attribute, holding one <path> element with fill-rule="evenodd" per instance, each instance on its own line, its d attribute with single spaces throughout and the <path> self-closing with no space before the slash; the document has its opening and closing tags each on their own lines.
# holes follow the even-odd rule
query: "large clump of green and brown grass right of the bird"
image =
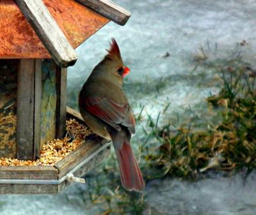
<svg viewBox="0 0 256 215">
<path fill-rule="evenodd" d="M 193 131 L 189 124 L 171 130 L 168 124 L 154 131 L 159 145 L 145 160 L 157 174 L 148 179 L 256 168 L 256 83 L 245 72 L 243 67 L 221 71 L 220 93 L 207 98 L 221 117 L 218 124 L 204 131 Z"/>
</svg>

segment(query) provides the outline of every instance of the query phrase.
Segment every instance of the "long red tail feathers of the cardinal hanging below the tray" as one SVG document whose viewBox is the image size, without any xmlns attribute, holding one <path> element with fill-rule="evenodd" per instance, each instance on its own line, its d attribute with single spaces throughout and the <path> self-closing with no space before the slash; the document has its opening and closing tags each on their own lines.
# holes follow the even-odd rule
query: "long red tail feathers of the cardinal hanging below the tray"
<svg viewBox="0 0 256 215">
<path fill-rule="evenodd" d="M 124 188 L 129 191 L 143 191 L 145 184 L 131 145 L 124 143 L 121 149 L 116 147 L 115 151 Z"/>
</svg>

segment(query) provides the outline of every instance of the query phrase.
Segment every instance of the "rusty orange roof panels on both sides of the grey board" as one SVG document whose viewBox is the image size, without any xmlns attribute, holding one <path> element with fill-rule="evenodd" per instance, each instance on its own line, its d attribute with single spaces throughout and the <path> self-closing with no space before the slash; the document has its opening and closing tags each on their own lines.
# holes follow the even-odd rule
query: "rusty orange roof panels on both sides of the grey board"
<svg viewBox="0 0 256 215">
<path fill-rule="evenodd" d="M 44 0 L 74 48 L 109 22 L 74 0 Z M 14 0 L 0 0 L 0 59 L 51 58 Z"/>
</svg>

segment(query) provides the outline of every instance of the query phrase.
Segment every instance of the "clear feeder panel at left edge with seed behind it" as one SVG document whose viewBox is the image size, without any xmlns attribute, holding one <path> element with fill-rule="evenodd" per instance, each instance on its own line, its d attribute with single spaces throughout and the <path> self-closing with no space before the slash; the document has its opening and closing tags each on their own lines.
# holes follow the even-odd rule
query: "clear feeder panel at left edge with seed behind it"
<svg viewBox="0 0 256 215">
<path fill-rule="evenodd" d="M 0 158 L 16 156 L 17 60 L 0 59 Z"/>
</svg>

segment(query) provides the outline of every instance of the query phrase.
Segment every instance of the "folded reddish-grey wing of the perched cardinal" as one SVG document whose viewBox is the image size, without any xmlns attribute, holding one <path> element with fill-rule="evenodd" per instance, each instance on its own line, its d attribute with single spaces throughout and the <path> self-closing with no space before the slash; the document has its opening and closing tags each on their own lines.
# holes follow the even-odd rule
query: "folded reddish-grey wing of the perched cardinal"
<svg viewBox="0 0 256 215">
<path fill-rule="evenodd" d="M 135 119 L 128 103 L 122 105 L 100 96 L 88 96 L 83 101 L 83 107 L 90 114 L 105 121 L 120 131 L 120 125 L 127 126 L 131 133 L 135 132 Z"/>
</svg>

